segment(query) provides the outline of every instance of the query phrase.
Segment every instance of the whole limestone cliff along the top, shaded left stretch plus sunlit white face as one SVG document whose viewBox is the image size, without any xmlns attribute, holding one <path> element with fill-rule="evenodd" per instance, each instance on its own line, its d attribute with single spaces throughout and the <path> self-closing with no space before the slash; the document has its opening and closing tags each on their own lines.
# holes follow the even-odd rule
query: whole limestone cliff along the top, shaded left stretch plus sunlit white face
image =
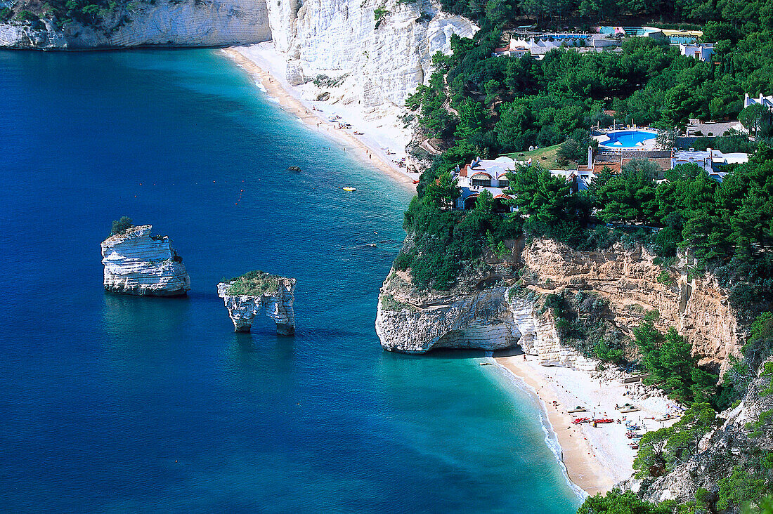
<svg viewBox="0 0 773 514">
<path fill-rule="evenodd" d="M 118 2 L 91 26 L 57 23 L 33 0 L 14 9 L 32 9 L 40 19 L 0 23 L 0 46 L 243 46 L 273 40 L 288 60 L 290 83 L 328 75 L 329 102 L 359 104 L 373 117 L 401 114 L 407 95 L 429 79 L 434 53 L 450 53 L 452 34 L 471 37 L 477 30 L 467 19 L 441 12 L 437 0 L 138 0 Z M 378 20 L 376 12 L 383 13 Z"/>
</svg>

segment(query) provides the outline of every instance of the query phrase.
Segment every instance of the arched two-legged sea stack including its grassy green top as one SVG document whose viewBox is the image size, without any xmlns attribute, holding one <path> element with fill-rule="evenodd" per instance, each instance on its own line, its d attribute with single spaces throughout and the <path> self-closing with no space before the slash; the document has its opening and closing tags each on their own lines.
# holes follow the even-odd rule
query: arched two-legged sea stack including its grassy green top
<svg viewBox="0 0 773 514">
<path fill-rule="evenodd" d="M 278 335 L 295 334 L 295 278 L 250 271 L 217 284 L 234 332 L 250 332 L 255 315 L 264 311 L 277 324 Z"/>
</svg>

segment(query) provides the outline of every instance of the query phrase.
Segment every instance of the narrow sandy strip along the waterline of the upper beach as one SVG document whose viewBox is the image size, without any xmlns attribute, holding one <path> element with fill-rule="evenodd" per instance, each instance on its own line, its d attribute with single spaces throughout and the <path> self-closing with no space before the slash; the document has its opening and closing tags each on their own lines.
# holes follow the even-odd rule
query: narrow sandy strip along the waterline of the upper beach
<svg viewBox="0 0 773 514">
<path fill-rule="evenodd" d="M 379 141 L 358 137 L 350 131 L 337 128 L 325 117 L 324 111 L 315 110 L 313 105 L 308 105 L 308 102 L 302 100 L 298 95 L 298 90 L 285 83 L 284 78 L 280 77 L 279 73 L 276 73 L 275 70 L 273 70 L 274 73 L 271 73 L 269 63 L 256 58 L 256 55 L 260 54 L 250 53 L 247 55 L 246 49 L 247 47 L 231 46 L 221 49 L 221 51 L 237 66 L 245 70 L 250 77 L 259 81 L 262 84 L 261 89 L 268 97 L 277 100 L 284 111 L 298 117 L 310 130 L 338 142 L 349 155 L 354 156 L 364 164 L 379 169 L 407 189 L 415 189 L 413 181 L 418 179 L 419 173 L 407 172 L 404 168 L 390 162 L 390 155 L 386 153 L 388 150 L 379 146 Z M 264 53 L 268 51 L 268 49 L 264 49 Z"/>
</svg>

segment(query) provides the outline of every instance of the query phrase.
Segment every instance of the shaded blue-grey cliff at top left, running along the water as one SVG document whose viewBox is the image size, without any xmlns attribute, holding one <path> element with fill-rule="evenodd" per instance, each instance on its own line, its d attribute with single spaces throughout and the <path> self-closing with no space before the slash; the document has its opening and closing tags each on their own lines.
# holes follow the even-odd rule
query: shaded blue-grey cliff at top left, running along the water
<svg viewBox="0 0 773 514">
<path fill-rule="evenodd" d="M 0 46 L 94 49 L 126 46 L 223 46 L 271 39 L 265 0 L 157 0 L 121 3 L 99 26 L 53 19 L 0 23 Z"/>
</svg>

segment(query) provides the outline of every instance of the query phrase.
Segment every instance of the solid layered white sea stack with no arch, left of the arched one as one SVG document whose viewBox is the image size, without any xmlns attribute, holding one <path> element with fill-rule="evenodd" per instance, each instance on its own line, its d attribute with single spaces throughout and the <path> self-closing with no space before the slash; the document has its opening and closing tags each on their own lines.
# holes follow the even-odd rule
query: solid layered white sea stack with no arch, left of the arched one
<svg viewBox="0 0 773 514">
<path fill-rule="evenodd" d="M 182 258 L 152 225 L 132 226 L 102 241 L 104 290 L 140 296 L 180 296 L 191 288 Z"/>
</svg>

